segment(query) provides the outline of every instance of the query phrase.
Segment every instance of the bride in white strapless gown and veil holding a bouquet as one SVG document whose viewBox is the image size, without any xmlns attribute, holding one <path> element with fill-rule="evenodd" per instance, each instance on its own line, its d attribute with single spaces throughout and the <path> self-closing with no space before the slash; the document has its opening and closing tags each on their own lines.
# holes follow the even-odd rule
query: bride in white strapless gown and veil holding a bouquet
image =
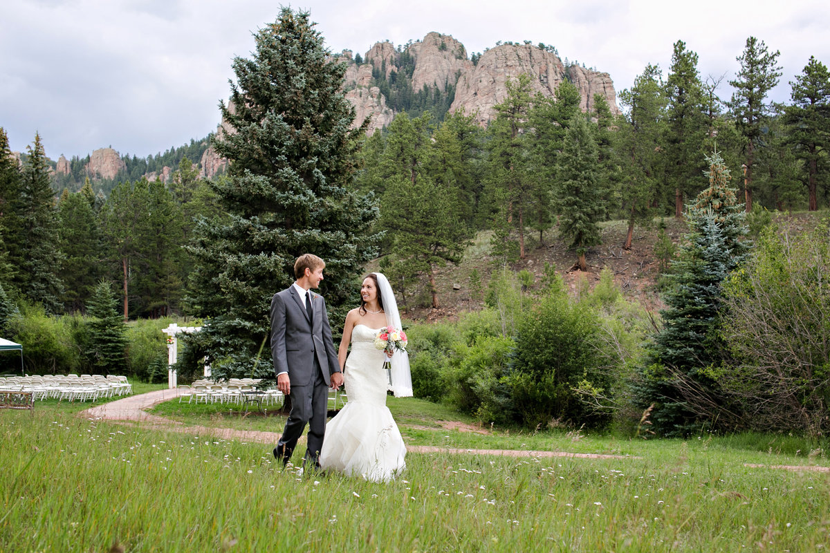
<svg viewBox="0 0 830 553">
<path fill-rule="evenodd" d="M 403 457 L 407 449 L 386 406 L 389 379 L 383 361 L 387 354 L 374 346 L 374 337 L 382 327 L 401 329 L 401 318 L 383 274 L 369 274 L 360 287 L 360 297 L 360 307 L 346 315 L 337 356 L 349 401 L 326 425 L 320 468 L 387 482 L 406 467 Z M 352 351 L 347 359 L 349 344 Z M 406 352 L 395 352 L 391 365 L 389 389 L 398 397 L 413 395 Z"/>
</svg>

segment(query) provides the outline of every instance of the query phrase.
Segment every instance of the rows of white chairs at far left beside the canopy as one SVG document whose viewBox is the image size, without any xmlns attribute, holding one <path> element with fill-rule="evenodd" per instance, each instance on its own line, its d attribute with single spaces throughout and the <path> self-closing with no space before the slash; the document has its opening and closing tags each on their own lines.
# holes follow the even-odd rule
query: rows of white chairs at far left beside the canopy
<svg viewBox="0 0 830 553">
<path fill-rule="evenodd" d="M 0 390 L 32 392 L 35 400 L 87 401 L 129 395 L 133 386 L 117 375 L 27 375 L 0 377 Z"/>
</svg>

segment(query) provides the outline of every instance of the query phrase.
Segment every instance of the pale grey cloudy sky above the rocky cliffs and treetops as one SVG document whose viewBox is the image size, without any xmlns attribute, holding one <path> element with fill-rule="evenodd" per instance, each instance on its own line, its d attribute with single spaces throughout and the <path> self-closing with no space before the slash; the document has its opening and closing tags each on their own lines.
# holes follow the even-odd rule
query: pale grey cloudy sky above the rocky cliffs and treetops
<svg viewBox="0 0 830 553">
<path fill-rule="evenodd" d="M 442 32 L 469 53 L 496 41 L 544 42 L 559 55 L 607 71 L 627 89 L 649 62 L 664 73 L 672 44 L 700 56 L 701 77 L 725 75 L 731 92 L 748 36 L 780 51 L 784 75 L 772 98 L 816 56 L 830 65 L 826 0 L 300 0 L 331 51 L 361 55 Z M 46 155 L 85 156 L 111 146 L 149 154 L 203 138 L 218 123 L 234 56 L 273 22 L 266 0 L 14 0 L 0 17 L 0 127 L 12 150 L 36 132 Z"/>
</svg>

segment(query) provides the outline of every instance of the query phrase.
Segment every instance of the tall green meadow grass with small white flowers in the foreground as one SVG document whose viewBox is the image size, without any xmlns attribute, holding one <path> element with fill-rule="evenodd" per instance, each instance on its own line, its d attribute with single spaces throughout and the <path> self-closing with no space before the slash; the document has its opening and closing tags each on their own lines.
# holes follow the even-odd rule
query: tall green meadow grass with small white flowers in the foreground
<svg viewBox="0 0 830 553">
<path fill-rule="evenodd" d="M 262 444 L 209 434 L 58 410 L 0 417 L 2 551 L 820 551 L 828 543 L 827 474 L 746 468 L 740 454 L 703 439 L 626 442 L 637 457 L 619 459 L 409 454 L 403 478 L 377 484 L 298 476 Z"/>
</svg>

